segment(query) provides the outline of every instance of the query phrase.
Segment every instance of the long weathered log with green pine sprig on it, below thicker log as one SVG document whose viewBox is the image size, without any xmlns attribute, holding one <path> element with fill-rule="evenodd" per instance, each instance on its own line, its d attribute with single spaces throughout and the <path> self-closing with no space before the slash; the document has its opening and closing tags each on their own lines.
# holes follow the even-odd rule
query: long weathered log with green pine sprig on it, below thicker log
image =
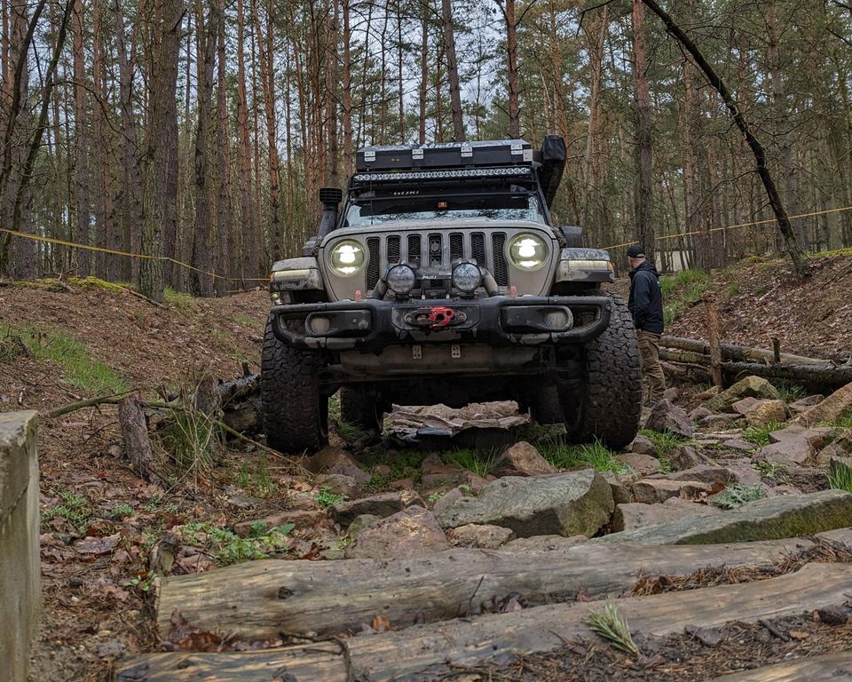
<svg viewBox="0 0 852 682">
<path fill-rule="evenodd" d="M 622 548 L 623 549 L 623 548 Z M 596 567 L 590 567 L 593 574 Z M 840 606 L 852 590 L 852 566 L 812 564 L 769 580 L 633 597 L 618 602 L 635 634 L 663 637 L 690 624 L 721 627 L 739 621 L 801 614 Z M 783 599 L 779 599 L 783 595 Z M 347 656 L 329 653 L 335 643 L 249 654 L 147 654 L 119 671 L 119 682 L 272 682 L 297 680 L 383 682 L 435 665 L 472 663 L 494 654 L 531 654 L 562 646 L 564 639 L 595 637 L 583 623 L 600 602 L 533 607 L 503 615 L 415 625 L 346 640 Z"/>
</svg>

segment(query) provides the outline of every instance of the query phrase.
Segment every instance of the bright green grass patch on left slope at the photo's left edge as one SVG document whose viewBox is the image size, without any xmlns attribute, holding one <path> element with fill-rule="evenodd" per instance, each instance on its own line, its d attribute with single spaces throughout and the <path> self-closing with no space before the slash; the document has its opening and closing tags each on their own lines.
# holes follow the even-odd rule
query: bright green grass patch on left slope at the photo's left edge
<svg viewBox="0 0 852 682">
<path fill-rule="evenodd" d="M 130 383 L 118 372 L 91 357 L 83 342 L 65 331 L 38 329 L 33 325 L 13 327 L 0 322 L 0 339 L 17 339 L 12 347 L 20 345 L 36 360 L 50 360 L 59 364 L 65 382 L 75 388 L 96 395 L 125 393 Z M 9 342 L 4 342 L 6 347 Z M 8 351 L 6 351 L 8 353 Z M 3 361 L 0 355 L 0 361 Z"/>
</svg>

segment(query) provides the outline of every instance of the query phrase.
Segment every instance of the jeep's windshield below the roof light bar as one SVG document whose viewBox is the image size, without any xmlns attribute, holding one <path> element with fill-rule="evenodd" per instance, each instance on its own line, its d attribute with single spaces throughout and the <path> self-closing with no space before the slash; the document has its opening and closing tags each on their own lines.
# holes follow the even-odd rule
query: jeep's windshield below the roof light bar
<svg viewBox="0 0 852 682">
<path fill-rule="evenodd" d="M 528 192 L 500 194 L 444 194 L 376 196 L 351 202 L 347 227 L 366 227 L 391 220 L 532 220 L 544 223 L 538 198 Z"/>
</svg>

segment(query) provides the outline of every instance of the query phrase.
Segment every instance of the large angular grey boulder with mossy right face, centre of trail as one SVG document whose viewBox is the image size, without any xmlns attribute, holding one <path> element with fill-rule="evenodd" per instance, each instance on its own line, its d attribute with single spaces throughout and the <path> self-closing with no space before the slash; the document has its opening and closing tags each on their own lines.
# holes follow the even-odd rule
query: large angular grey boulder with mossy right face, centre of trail
<svg viewBox="0 0 852 682">
<path fill-rule="evenodd" d="M 594 469 L 521 478 L 507 476 L 462 497 L 438 517 L 443 527 L 469 523 L 511 528 L 518 537 L 594 535 L 609 521 L 609 484 Z"/>
</svg>

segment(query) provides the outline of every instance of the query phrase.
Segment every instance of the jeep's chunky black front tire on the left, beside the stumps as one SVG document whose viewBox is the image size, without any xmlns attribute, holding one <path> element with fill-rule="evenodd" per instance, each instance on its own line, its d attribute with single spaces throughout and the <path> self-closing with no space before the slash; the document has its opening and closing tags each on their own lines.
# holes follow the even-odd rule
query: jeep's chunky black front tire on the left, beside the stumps
<svg viewBox="0 0 852 682">
<path fill-rule="evenodd" d="M 328 396 L 320 391 L 319 353 L 284 345 L 266 321 L 260 393 L 264 430 L 270 448 L 290 455 L 318 450 L 328 443 Z"/>
</svg>

